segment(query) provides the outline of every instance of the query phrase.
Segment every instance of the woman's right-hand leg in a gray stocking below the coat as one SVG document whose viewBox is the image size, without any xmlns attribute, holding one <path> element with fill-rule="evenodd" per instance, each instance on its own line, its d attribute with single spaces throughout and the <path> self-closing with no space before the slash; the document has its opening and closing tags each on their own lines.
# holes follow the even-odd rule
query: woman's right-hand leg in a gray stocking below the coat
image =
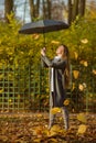
<svg viewBox="0 0 96 143">
<path fill-rule="evenodd" d="M 67 130 L 68 129 L 68 110 L 67 110 L 67 108 L 63 107 L 62 112 L 63 112 L 63 120 L 64 120 L 65 130 Z"/>
</svg>

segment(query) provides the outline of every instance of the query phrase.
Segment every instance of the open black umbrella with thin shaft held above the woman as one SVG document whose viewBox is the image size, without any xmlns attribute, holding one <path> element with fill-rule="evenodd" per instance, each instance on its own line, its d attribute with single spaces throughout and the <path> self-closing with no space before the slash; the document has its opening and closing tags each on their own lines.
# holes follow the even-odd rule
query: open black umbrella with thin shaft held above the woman
<svg viewBox="0 0 96 143">
<path fill-rule="evenodd" d="M 40 20 L 36 22 L 31 22 L 24 24 L 19 33 L 22 34 L 33 34 L 33 33 L 43 33 L 44 44 L 45 44 L 45 34 L 47 32 L 60 31 L 63 29 L 68 29 L 68 24 L 63 21 L 56 20 Z"/>
</svg>

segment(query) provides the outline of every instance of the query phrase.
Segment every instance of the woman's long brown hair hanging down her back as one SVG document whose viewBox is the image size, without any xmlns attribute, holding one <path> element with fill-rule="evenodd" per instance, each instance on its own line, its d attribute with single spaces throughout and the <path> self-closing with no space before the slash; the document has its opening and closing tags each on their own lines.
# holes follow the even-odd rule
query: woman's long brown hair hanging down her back
<svg viewBox="0 0 96 143">
<path fill-rule="evenodd" d="M 66 59 L 66 67 L 64 70 L 64 78 L 65 78 L 65 88 L 70 86 L 70 52 L 66 45 L 62 45 L 64 47 L 63 57 Z"/>
</svg>

